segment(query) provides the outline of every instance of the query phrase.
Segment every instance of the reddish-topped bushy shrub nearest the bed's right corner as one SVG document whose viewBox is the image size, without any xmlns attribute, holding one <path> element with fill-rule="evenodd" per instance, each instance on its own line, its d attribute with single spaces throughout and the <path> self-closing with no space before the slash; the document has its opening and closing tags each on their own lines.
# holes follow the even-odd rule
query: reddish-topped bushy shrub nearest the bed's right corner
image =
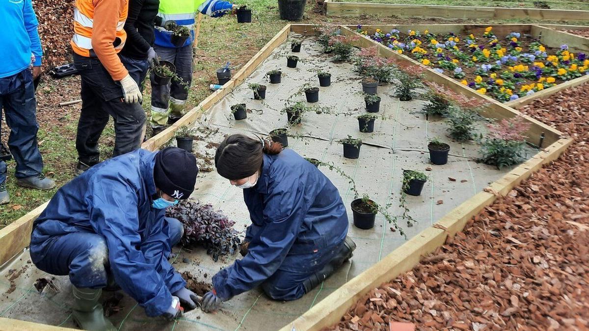
<svg viewBox="0 0 589 331">
<path fill-rule="evenodd" d="M 530 128 L 530 123 L 525 123 L 521 117 L 502 120 L 499 123 L 488 124 L 489 133 L 485 139 L 481 135 L 482 161 L 489 166 L 502 167 L 513 166 L 524 158 L 522 154 L 525 146 L 524 132 Z"/>
</svg>

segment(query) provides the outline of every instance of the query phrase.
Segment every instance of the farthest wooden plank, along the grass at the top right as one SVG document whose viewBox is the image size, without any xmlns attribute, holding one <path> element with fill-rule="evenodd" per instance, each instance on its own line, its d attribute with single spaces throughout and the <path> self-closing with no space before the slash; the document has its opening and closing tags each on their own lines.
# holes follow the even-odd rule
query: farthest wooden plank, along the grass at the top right
<svg viewBox="0 0 589 331">
<path fill-rule="evenodd" d="M 324 2 L 326 16 L 383 15 L 400 18 L 535 19 L 538 21 L 589 22 L 589 11 L 537 8 L 471 7 L 440 5 Z"/>
</svg>

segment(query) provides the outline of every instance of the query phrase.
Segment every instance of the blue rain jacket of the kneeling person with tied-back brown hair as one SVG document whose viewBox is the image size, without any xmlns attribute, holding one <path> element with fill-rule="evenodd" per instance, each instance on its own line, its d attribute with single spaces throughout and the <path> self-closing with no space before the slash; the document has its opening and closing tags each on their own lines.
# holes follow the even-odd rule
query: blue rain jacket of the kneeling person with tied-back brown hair
<svg viewBox="0 0 589 331">
<path fill-rule="evenodd" d="M 243 190 L 252 225 L 249 252 L 213 277 L 217 296 L 229 300 L 253 289 L 280 267 L 308 270 L 348 233 L 348 215 L 331 181 L 293 150 L 264 154 L 262 176 Z"/>
</svg>

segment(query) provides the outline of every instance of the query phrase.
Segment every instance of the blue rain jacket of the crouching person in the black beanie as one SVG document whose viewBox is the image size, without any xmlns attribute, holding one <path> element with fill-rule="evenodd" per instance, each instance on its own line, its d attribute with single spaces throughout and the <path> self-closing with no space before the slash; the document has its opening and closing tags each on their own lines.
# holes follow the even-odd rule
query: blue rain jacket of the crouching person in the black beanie
<svg viewBox="0 0 589 331">
<path fill-rule="evenodd" d="M 56 236 L 101 234 L 121 289 L 137 300 L 148 316 L 166 312 L 172 302 L 170 293 L 186 282 L 167 260 L 171 247 L 161 231 L 166 211 L 151 207 L 157 153 L 136 150 L 120 155 L 60 188 L 33 224 L 33 262 L 44 259 L 45 249 Z"/>
</svg>

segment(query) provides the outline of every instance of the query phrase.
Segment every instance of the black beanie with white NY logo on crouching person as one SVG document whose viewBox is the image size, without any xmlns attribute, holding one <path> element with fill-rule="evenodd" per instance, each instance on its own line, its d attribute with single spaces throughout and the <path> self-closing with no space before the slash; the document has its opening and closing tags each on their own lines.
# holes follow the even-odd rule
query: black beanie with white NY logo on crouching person
<svg viewBox="0 0 589 331">
<path fill-rule="evenodd" d="M 181 148 L 166 147 L 155 155 L 155 187 L 170 197 L 178 200 L 190 197 L 197 174 L 196 157 Z"/>
</svg>

